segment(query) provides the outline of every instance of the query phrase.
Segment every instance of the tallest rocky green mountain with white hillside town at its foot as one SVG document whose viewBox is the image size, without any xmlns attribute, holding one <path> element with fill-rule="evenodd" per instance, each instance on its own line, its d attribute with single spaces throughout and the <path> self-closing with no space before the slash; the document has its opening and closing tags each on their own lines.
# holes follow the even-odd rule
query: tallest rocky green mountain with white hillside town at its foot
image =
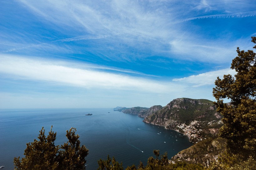
<svg viewBox="0 0 256 170">
<path fill-rule="evenodd" d="M 191 142 L 197 143 L 219 133 L 219 128 L 223 125 L 221 118 L 212 101 L 178 98 L 143 121 L 179 131 L 188 135 Z"/>
</svg>

